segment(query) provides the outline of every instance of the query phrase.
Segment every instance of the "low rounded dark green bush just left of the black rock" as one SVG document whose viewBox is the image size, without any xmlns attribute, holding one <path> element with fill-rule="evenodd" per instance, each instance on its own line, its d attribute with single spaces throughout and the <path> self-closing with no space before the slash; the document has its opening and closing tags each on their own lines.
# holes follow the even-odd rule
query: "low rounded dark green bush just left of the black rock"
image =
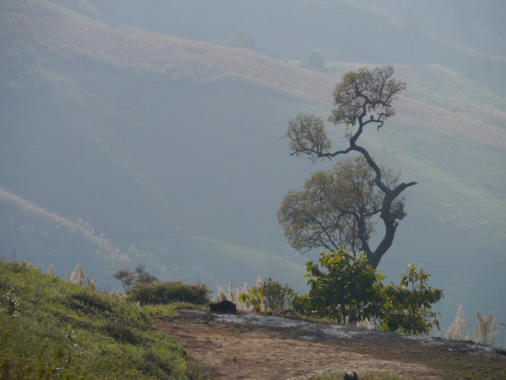
<svg viewBox="0 0 506 380">
<path fill-rule="evenodd" d="M 187 302 L 204 305 L 209 303 L 210 291 L 204 284 L 184 284 L 182 281 L 136 284 L 128 292 L 129 300 L 141 305 Z"/>
</svg>

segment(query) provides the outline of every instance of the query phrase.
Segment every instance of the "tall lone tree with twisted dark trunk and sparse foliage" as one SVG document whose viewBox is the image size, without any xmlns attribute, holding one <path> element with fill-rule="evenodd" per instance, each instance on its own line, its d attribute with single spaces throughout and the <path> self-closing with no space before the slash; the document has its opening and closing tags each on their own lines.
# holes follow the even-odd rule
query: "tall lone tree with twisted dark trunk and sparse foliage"
<svg viewBox="0 0 506 380">
<path fill-rule="evenodd" d="M 401 193 L 416 182 L 398 184 L 399 174 L 378 165 L 357 140 L 364 128 L 383 126 L 395 115 L 392 103 L 406 89 L 406 83 L 393 77 L 392 66 L 372 71 L 360 68 L 345 74 L 333 93 L 334 109 L 328 121 L 345 126 L 349 147 L 331 151 L 324 121 L 314 114 L 299 114 L 288 122 L 284 137 L 290 154 L 306 154 L 316 162 L 358 152 L 355 159 L 339 161 L 333 171 L 317 172 L 306 181 L 304 191 L 289 191 L 277 216 L 290 245 L 302 253 L 313 248 L 335 250 L 349 247 L 354 257 L 363 251 L 368 264 L 376 268 L 392 246 L 404 212 Z M 357 125 L 358 124 L 358 125 Z M 385 235 L 375 249 L 369 246 L 374 229 L 371 218 L 379 214 Z"/>
</svg>

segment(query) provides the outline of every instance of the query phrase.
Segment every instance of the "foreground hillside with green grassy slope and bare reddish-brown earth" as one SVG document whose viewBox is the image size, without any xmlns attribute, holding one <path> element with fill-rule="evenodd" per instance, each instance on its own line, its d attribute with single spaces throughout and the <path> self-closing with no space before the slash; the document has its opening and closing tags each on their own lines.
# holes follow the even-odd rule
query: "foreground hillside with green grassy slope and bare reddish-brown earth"
<svg viewBox="0 0 506 380">
<path fill-rule="evenodd" d="M 342 378 L 353 369 L 371 380 L 505 378 L 501 348 L 200 309 L 140 308 L 26 262 L 0 261 L 0 375 L 305 380 L 321 374 Z M 152 320 L 153 312 L 162 318 Z"/>
</svg>

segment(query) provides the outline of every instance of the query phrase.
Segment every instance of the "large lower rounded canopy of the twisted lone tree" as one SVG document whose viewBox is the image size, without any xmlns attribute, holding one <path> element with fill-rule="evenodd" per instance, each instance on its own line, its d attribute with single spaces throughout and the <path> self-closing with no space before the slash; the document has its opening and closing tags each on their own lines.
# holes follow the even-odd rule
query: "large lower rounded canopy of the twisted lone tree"
<svg viewBox="0 0 506 380">
<path fill-rule="evenodd" d="M 400 174 L 380 165 L 383 180 L 395 187 Z M 304 189 L 290 190 L 277 212 L 290 245 L 301 252 L 325 247 L 363 251 L 375 231 L 371 218 L 381 212 L 385 193 L 374 183 L 376 174 L 363 156 L 337 161 L 328 171 L 313 173 Z M 390 216 L 403 219 L 404 199 L 392 201 Z"/>
</svg>

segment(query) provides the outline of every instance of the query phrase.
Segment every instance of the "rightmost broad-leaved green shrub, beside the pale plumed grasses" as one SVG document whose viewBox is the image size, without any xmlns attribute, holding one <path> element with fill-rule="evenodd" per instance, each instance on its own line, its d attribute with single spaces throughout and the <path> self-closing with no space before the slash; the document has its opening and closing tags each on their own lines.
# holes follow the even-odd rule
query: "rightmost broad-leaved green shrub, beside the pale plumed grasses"
<svg viewBox="0 0 506 380">
<path fill-rule="evenodd" d="M 432 309 L 432 304 L 443 298 L 443 290 L 428 284 L 428 274 L 416 265 L 407 266 L 407 274 L 401 282 L 393 282 L 385 288 L 387 302 L 381 329 L 412 334 L 428 334 L 432 326 L 439 327 L 437 316 L 441 313 Z"/>
</svg>

